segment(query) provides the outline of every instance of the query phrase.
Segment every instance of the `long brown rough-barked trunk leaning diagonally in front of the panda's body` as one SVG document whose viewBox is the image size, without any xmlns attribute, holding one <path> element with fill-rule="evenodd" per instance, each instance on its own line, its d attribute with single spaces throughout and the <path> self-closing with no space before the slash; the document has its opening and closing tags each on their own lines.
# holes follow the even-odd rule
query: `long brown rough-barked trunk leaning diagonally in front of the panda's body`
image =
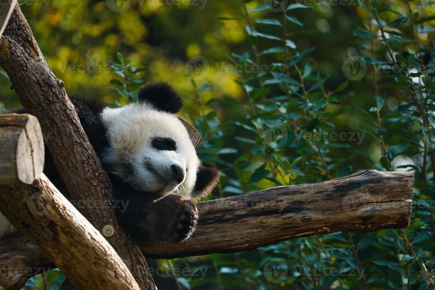
<svg viewBox="0 0 435 290">
<path fill-rule="evenodd" d="M 107 202 L 112 200 L 110 180 L 80 126 L 64 83 L 48 67 L 18 4 L 0 38 L 0 66 L 27 112 L 38 118 L 70 196 L 85 201 L 80 213 L 97 229 L 105 223 L 114 226 L 116 233 L 107 240 L 141 289 L 155 289 L 140 247 L 119 227 Z"/>
</svg>

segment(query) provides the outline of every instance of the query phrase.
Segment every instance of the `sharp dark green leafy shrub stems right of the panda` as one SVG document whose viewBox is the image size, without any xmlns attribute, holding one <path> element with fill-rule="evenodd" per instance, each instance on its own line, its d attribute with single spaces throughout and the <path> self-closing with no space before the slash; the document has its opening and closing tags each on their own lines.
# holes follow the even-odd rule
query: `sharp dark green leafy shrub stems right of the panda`
<svg viewBox="0 0 435 290">
<path fill-rule="evenodd" d="M 394 18 L 390 7 L 366 7 L 369 18 L 353 32 L 360 39 L 354 43 L 356 50 L 365 56 L 364 78 L 370 79 L 371 84 L 367 89 L 373 92 L 364 106 L 353 101 L 355 93 L 347 90 L 348 80 L 331 86 L 328 75 L 315 72 L 315 63 L 305 60 L 313 49 L 299 50 L 295 44 L 290 31 L 302 25 L 289 7 L 281 13 L 284 18 L 278 15 L 272 19 L 277 15 L 265 13 L 265 18 L 255 20 L 251 19 L 254 13 L 264 12 L 267 7 L 255 7 L 252 14 L 246 13 L 248 9 L 244 7 L 251 50 L 231 53 L 233 67 L 260 67 L 270 59 L 273 63 L 268 64 L 266 71 L 233 71 L 245 102 L 218 98 L 204 105 L 197 96 L 202 110 L 197 119 L 193 118 L 195 126 L 201 133 L 218 132 L 220 141 L 212 146 L 206 140 L 198 152 L 202 160 L 217 165 L 223 172 L 216 197 L 319 182 L 370 168 L 415 170 L 410 227 L 366 234 L 333 233 L 248 253 L 214 254 L 204 258 L 204 263 L 211 263 L 214 270 L 208 285 L 219 289 L 434 287 L 434 51 L 431 42 L 420 43 L 414 34 L 433 30 L 419 26 L 418 17 L 410 21 L 413 16 L 412 11 L 407 12 L 407 6 L 397 8 L 404 9 L 401 14 L 407 15 L 400 18 Z M 393 15 L 385 11 L 392 11 Z M 271 26 L 281 29 L 266 28 Z M 395 30 L 387 33 L 388 27 Z M 268 42 L 270 46 L 261 45 L 262 39 L 272 40 Z M 373 64 L 373 69 L 368 64 Z M 411 65 L 418 69 L 413 70 Z M 391 70 L 395 67 L 400 70 Z M 196 84 L 194 87 L 197 89 Z M 227 122 L 214 120 L 215 114 L 207 119 L 210 113 L 206 112 L 231 110 L 232 106 L 239 115 L 231 115 Z M 337 120 L 349 119 L 351 115 L 355 116 L 353 131 L 337 126 Z M 335 133 L 343 135 L 333 138 Z M 210 135 L 215 137 L 214 134 Z M 228 148 L 221 142 L 222 137 L 232 137 L 241 145 L 228 142 L 234 144 Z M 370 150 L 361 149 L 362 146 Z M 379 151 L 380 155 L 376 157 L 370 151 Z M 238 154 L 228 163 L 225 156 L 216 152 Z M 361 162 L 352 162 L 355 158 Z M 175 259 L 174 264 L 183 265 L 184 260 Z M 268 263 L 277 260 L 282 261 L 280 269 L 288 272 L 284 277 L 277 278 L 267 270 Z M 189 278 L 183 287 L 201 288 L 197 280 Z"/>
</svg>

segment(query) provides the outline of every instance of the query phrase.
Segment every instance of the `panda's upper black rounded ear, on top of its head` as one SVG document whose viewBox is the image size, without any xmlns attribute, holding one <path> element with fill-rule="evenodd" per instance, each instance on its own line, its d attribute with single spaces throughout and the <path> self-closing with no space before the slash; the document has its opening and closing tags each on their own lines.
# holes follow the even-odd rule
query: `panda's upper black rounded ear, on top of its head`
<svg viewBox="0 0 435 290">
<path fill-rule="evenodd" d="M 151 103 L 156 109 L 168 113 L 178 113 L 183 107 L 183 99 L 168 83 L 147 83 L 137 92 L 139 102 Z"/>
</svg>

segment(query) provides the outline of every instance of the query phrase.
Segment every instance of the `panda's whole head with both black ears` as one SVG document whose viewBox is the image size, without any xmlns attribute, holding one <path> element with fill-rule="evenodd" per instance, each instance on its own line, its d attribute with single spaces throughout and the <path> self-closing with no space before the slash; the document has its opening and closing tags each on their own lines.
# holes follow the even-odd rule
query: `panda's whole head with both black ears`
<svg viewBox="0 0 435 290">
<path fill-rule="evenodd" d="M 138 102 L 104 109 L 101 119 L 109 147 L 104 165 L 134 189 L 184 197 L 204 196 L 216 186 L 218 171 L 202 167 L 186 127 L 175 113 L 183 100 L 167 83 L 150 83 Z M 198 194 L 199 193 L 199 194 Z"/>
</svg>

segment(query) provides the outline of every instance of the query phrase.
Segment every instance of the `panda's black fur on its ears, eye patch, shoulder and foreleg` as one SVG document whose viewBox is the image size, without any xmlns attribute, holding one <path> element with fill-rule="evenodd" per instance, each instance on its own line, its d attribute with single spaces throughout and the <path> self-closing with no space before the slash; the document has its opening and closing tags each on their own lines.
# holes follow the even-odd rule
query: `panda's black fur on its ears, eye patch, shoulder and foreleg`
<svg viewBox="0 0 435 290">
<path fill-rule="evenodd" d="M 142 93 L 141 93 L 142 92 Z M 145 93 L 146 92 L 146 93 Z M 150 101 L 156 108 L 167 112 L 175 113 L 181 109 L 181 98 L 169 85 L 157 83 L 147 85 L 141 89 L 139 95 L 141 100 Z M 144 96 L 146 95 L 146 99 Z M 80 123 L 89 138 L 95 152 L 100 157 L 104 148 L 109 146 L 106 140 L 106 131 L 102 123 L 100 113 L 107 107 L 91 99 L 71 99 L 77 110 Z M 171 104 L 171 102 L 175 103 Z M 25 113 L 23 108 L 13 110 L 13 113 Z M 172 142 L 174 142 L 172 140 Z M 162 150 L 172 150 L 171 140 L 165 140 L 154 145 Z M 43 172 L 54 183 L 54 185 L 68 197 L 67 188 L 53 164 L 53 157 L 47 146 L 45 148 L 46 158 Z M 107 168 L 105 168 L 107 170 Z M 217 170 L 207 170 L 201 167 L 198 172 L 195 190 L 211 192 L 217 183 Z M 117 213 L 120 224 L 125 227 L 137 240 L 147 239 L 156 241 L 186 240 L 194 231 L 198 216 L 193 201 L 176 196 L 174 199 L 168 195 L 161 197 L 155 193 L 147 193 L 135 190 L 128 183 L 121 180 L 114 174 L 110 174 L 110 181 L 114 187 L 114 209 Z M 147 219 L 154 223 L 154 226 L 147 223 Z"/>
</svg>

